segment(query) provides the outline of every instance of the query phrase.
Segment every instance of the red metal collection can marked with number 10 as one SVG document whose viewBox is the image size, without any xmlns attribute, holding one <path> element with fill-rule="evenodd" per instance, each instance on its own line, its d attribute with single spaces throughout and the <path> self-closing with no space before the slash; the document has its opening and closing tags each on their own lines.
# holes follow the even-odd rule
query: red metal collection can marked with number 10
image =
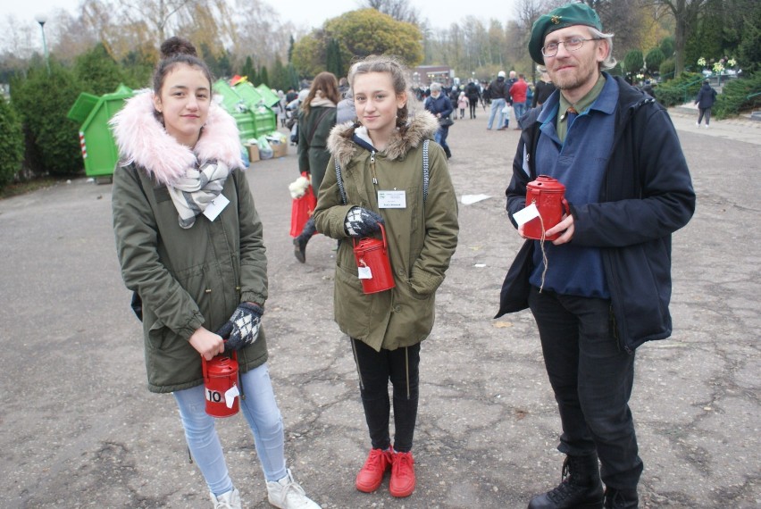
<svg viewBox="0 0 761 509">
<path fill-rule="evenodd" d="M 217 355 L 211 361 L 201 357 L 204 371 L 206 413 L 212 417 L 231 417 L 238 413 L 238 353 Z"/>
</svg>

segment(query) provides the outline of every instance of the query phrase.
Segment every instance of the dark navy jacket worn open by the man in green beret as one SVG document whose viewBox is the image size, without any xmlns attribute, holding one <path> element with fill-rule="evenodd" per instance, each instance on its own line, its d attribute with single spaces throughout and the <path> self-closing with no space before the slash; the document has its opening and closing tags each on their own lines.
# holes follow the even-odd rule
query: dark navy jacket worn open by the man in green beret
<svg viewBox="0 0 761 509">
<path fill-rule="evenodd" d="M 695 192 L 665 108 L 623 79 L 615 80 L 620 92 L 614 142 L 599 202 L 571 204 L 571 213 L 573 243 L 602 251 L 618 340 L 631 353 L 645 341 L 671 335 L 671 234 L 690 221 Z M 514 225 L 513 213 L 525 206 L 526 184 L 537 176 L 539 112 L 535 108 L 524 117 L 506 189 Z M 507 272 L 497 316 L 528 307 L 534 246 L 527 240 Z"/>
</svg>

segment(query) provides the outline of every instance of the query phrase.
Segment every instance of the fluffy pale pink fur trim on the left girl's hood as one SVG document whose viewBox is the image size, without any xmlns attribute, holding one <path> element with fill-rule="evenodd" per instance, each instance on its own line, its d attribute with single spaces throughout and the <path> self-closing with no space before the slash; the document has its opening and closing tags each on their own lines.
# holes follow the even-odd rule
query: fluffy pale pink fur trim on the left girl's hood
<svg viewBox="0 0 761 509">
<path fill-rule="evenodd" d="M 217 160 L 243 168 L 238 125 L 212 101 L 201 138 L 191 150 L 166 132 L 154 115 L 153 92 L 139 92 L 109 122 L 119 146 L 121 165 L 136 163 L 161 184 L 173 187 L 196 163 Z"/>
</svg>

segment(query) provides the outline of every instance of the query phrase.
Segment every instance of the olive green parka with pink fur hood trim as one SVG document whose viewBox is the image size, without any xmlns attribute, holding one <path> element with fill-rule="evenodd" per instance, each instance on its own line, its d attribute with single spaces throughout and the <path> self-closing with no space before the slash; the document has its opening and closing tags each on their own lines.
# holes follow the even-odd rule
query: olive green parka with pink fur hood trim
<svg viewBox="0 0 761 509">
<path fill-rule="evenodd" d="M 148 388 L 172 392 L 204 382 L 201 356 L 188 343 L 193 332 L 218 330 L 241 302 L 264 304 L 267 259 L 243 171 L 226 179 L 222 195 L 230 204 L 222 213 L 214 221 L 199 215 L 188 229 L 180 228 L 167 189 L 172 172 L 187 168 L 178 162 L 242 167 L 235 121 L 213 104 L 191 152 L 163 131 L 145 96 L 130 99 L 113 121 L 123 160 L 113 173 L 113 229 L 121 276 L 143 301 Z M 262 328 L 238 351 L 238 363 L 246 372 L 266 360 Z"/>
</svg>

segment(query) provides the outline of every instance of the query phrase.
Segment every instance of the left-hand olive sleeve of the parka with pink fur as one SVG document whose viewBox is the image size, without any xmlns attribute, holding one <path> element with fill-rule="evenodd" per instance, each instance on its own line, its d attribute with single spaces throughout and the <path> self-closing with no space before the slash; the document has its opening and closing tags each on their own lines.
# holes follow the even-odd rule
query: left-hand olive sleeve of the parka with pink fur
<svg viewBox="0 0 761 509">
<path fill-rule="evenodd" d="M 205 320 L 196 302 L 159 258 L 158 228 L 147 198 L 153 189 L 147 179 L 141 188 L 138 179 L 133 167 L 117 167 L 113 173 L 113 231 L 121 277 L 163 326 L 188 339 Z"/>
</svg>

